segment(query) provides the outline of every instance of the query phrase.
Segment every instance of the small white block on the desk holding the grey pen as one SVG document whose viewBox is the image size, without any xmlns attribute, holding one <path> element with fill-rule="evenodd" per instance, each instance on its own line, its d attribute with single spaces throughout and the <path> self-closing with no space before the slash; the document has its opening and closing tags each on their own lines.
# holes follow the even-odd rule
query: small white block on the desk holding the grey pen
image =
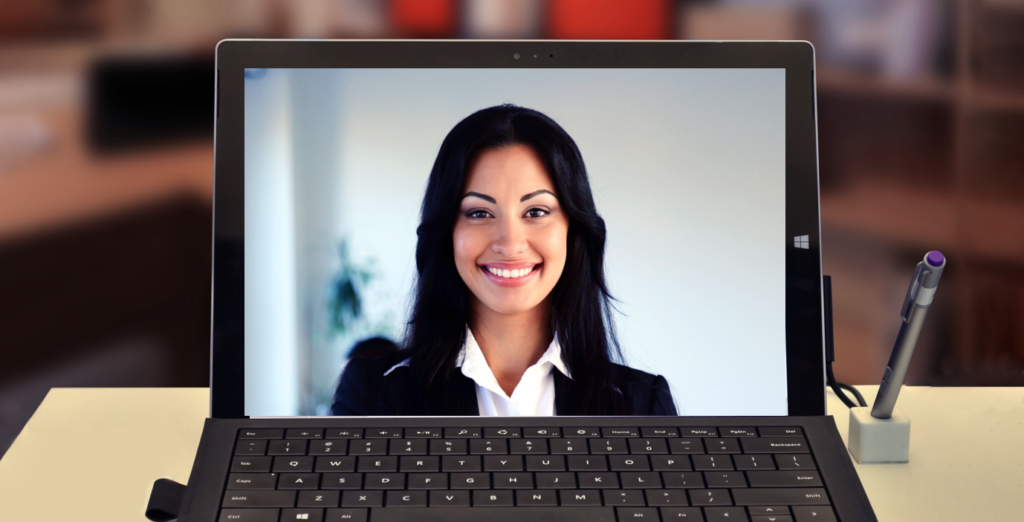
<svg viewBox="0 0 1024 522">
<path fill-rule="evenodd" d="M 899 408 L 889 419 L 869 407 L 850 408 L 850 453 L 860 464 L 905 463 L 910 458 L 910 420 Z"/>
</svg>

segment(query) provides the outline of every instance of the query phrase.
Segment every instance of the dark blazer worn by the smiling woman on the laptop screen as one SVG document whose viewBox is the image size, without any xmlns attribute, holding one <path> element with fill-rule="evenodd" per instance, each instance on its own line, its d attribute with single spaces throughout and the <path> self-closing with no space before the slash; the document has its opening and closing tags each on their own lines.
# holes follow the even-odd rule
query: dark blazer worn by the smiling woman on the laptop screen
<svg viewBox="0 0 1024 522">
<path fill-rule="evenodd" d="M 422 390 L 414 384 L 409 366 L 399 366 L 387 376 L 389 368 L 401 362 L 406 354 L 395 353 L 375 359 L 352 359 L 345 366 L 334 393 L 331 415 L 334 416 L 436 416 L 443 412 L 431 410 Z M 638 416 L 675 416 L 669 382 L 662 376 L 614 365 L 615 385 L 632 402 Z M 555 378 L 555 411 L 560 416 L 580 415 L 573 410 L 574 386 L 557 368 Z M 478 416 L 476 383 L 456 372 L 453 376 L 453 410 L 451 415 Z"/>
</svg>

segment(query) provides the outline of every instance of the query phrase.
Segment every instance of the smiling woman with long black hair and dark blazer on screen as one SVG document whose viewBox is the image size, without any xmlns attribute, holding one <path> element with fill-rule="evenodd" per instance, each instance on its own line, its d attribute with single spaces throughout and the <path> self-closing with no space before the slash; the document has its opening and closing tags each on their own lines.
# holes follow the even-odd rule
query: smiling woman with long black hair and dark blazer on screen
<svg viewBox="0 0 1024 522">
<path fill-rule="evenodd" d="M 417 235 L 403 349 L 351 360 L 333 415 L 676 415 L 664 377 L 613 362 L 604 221 L 553 120 L 500 105 L 459 122 Z"/>
</svg>

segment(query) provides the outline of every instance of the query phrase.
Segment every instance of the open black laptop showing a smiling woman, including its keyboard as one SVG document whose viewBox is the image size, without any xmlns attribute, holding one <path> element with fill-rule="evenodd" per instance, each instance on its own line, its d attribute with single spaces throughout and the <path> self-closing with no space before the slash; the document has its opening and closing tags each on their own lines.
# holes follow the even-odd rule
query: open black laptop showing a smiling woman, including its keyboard
<svg viewBox="0 0 1024 522">
<path fill-rule="evenodd" d="M 217 47 L 179 520 L 876 520 L 806 42 Z"/>
</svg>

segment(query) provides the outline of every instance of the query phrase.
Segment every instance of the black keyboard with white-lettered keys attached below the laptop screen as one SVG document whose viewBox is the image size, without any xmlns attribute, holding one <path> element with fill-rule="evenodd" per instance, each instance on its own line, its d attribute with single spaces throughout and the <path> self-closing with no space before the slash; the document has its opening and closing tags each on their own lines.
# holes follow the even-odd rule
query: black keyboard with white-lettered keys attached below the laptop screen
<svg viewBox="0 0 1024 522">
<path fill-rule="evenodd" d="M 181 522 L 876 520 L 831 418 L 209 420 Z"/>
</svg>

